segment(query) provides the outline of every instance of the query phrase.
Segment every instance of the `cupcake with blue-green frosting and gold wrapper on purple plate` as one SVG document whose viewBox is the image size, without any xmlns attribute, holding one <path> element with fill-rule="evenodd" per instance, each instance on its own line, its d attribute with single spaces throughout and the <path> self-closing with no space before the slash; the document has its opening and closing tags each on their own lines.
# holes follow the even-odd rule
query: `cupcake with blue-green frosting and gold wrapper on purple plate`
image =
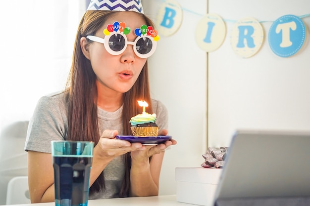
<svg viewBox="0 0 310 206">
<path fill-rule="evenodd" d="M 148 137 L 158 135 L 158 126 L 155 123 L 156 114 L 143 112 L 130 119 L 131 131 L 134 136 Z"/>
</svg>

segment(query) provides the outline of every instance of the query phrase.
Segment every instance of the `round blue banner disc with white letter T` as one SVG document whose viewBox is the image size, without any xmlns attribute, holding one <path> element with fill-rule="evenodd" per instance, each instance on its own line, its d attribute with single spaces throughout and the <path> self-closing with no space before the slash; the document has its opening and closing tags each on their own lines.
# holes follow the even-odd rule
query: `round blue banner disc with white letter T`
<svg viewBox="0 0 310 206">
<path fill-rule="evenodd" d="M 276 55 L 289 57 L 302 48 L 306 35 L 306 26 L 299 17 L 284 15 L 276 19 L 269 29 L 269 46 Z"/>
</svg>

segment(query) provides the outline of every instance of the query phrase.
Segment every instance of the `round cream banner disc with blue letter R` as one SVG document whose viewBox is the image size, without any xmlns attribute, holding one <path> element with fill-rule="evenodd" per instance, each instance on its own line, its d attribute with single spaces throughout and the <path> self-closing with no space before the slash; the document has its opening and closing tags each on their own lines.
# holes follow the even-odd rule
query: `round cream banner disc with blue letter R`
<svg viewBox="0 0 310 206">
<path fill-rule="evenodd" d="M 240 19 L 231 31 L 230 45 L 243 58 L 253 56 L 260 49 L 264 32 L 260 23 L 251 17 Z"/>
</svg>

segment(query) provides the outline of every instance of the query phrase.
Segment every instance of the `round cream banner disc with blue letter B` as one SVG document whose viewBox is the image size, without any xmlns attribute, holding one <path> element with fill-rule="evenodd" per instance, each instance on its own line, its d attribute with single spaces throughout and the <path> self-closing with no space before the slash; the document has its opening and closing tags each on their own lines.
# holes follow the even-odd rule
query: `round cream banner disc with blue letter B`
<svg viewBox="0 0 310 206">
<path fill-rule="evenodd" d="M 183 10 L 176 0 L 163 2 L 157 13 L 156 27 L 160 36 L 171 36 L 181 26 Z"/>
</svg>

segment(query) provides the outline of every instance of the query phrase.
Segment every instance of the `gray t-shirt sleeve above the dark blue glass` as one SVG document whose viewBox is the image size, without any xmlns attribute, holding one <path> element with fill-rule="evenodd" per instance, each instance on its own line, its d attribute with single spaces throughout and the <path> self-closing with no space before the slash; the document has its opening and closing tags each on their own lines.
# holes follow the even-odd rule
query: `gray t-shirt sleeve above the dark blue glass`
<svg viewBox="0 0 310 206">
<path fill-rule="evenodd" d="M 62 95 L 43 96 L 29 121 L 25 151 L 51 153 L 52 140 L 64 140 L 67 118 Z"/>
</svg>

